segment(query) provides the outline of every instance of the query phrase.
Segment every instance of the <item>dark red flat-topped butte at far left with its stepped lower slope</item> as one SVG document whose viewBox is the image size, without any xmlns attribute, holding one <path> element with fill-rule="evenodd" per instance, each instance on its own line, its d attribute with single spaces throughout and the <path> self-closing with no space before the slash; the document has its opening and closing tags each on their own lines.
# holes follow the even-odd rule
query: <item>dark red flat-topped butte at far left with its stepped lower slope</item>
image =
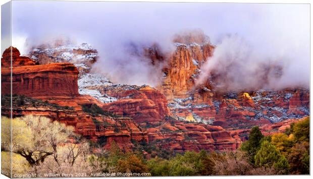
<svg viewBox="0 0 313 179">
<path fill-rule="evenodd" d="M 73 64 L 55 63 L 36 65 L 32 59 L 19 56 L 19 51 L 9 47 L 3 54 L 2 64 L 13 56 L 12 95 L 13 116 L 43 115 L 75 127 L 78 134 L 110 147 L 116 141 L 129 150 L 134 141 L 148 141 L 147 133 L 127 117 L 111 113 L 92 113 L 83 110 L 92 105 L 102 105 L 90 96 L 78 93 L 78 70 Z M 24 65 L 23 65 L 24 64 Z M 2 66 L 2 113 L 10 112 L 10 66 Z"/>
</svg>

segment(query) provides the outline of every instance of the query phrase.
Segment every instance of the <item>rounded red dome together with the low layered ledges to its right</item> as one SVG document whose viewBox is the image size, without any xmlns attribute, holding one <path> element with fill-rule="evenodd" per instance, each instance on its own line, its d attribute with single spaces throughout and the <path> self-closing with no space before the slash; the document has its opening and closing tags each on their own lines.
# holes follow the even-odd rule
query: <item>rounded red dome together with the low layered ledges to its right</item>
<svg viewBox="0 0 313 179">
<path fill-rule="evenodd" d="M 130 116 L 147 130 L 149 143 L 176 152 L 187 150 L 235 150 L 241 140 L 221 127 L 186 123 L 171 118 L 166 97 L 148 86 L 112 85 L 103 94 L 117 100 L 103 105 L 103 109 L 117 115 Z"/>
</svg>

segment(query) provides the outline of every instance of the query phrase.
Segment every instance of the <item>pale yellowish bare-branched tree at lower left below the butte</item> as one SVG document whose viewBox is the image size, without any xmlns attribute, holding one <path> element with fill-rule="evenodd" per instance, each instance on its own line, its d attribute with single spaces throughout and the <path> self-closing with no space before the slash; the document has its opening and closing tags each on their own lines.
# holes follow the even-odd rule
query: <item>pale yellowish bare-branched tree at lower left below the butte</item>
<svg viewBox="0 0 313 179">
<path fill-rule="evenodd" d="M 58 162 L 57 146 L 66 143 L 73 134 L 72 127 L 43 116 L 14 118 L 12 125 L 12 152 L 20 154 L 30 165 L 39 165 L 50 155 Z M 10 149 L 10 142 L 5 140 L 2 144 Z"/>
</svg>

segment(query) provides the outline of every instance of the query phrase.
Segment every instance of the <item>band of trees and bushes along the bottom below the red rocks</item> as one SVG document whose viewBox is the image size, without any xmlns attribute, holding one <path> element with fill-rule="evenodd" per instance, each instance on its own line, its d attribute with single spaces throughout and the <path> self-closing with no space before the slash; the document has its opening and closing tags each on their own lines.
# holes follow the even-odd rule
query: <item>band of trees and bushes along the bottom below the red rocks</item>
<svg viewBox="0 0 313 179">
<path fill-rule="evenodd" d="M 2 117 L 3 125 L 10 125 Z M 133 141 L 132 151 L 113 142 L 109 150 L 73 133 L 73 128 L 42 116 L 26 115 L 2 128 L 2 161 L 14 173 L 149 172 L 151 176 L 309 174 L 309 118 L 285 133 L 263 136 L 257 127 L 237 151 L 173 153 Z M 9 165 L 4 165 L 5 170 Z M 9 171 L 9 170 L 8 170 Z M 38 175 L 39 176 L 39 175 Z"/>
</svg>

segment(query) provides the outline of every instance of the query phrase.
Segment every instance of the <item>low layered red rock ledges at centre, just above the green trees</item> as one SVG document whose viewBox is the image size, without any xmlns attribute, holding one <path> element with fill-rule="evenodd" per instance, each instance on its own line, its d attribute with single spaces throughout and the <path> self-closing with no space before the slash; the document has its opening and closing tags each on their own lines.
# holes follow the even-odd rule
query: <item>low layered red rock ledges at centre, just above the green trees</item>
<svg viewBox="0 0 313 179">
<path fill-rule="evenodd" d="M 156 126 L 147 126 L 149 143 L 176 152 L 188 150 L 236 150 L 241 140 L 236 132 L 221 127 L 168 120 Z"/>
</svg>

